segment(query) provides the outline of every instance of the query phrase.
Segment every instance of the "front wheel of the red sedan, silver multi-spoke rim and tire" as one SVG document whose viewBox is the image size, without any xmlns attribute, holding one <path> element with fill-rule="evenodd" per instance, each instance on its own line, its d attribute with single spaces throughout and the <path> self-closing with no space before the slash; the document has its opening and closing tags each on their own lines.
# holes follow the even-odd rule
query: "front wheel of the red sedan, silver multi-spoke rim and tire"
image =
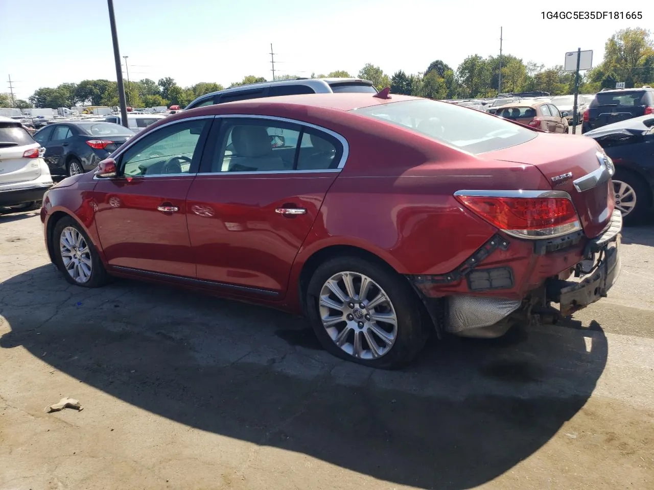
<svg viewBox="0 0 654 490">
<path fill-rule="evenodd" d="M 55 263 L 69 283 L 83 287 L 100 287 L 107 283 L 107 271 L 94 244 L 73 218 L 57 221 L 52 246 Z"/>
</svg>

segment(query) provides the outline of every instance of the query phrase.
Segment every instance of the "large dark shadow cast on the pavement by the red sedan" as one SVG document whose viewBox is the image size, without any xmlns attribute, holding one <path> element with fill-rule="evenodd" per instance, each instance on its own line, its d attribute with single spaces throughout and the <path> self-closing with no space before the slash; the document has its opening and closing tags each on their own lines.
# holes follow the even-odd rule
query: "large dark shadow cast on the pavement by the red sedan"
<svg viewBox="0 0 654 490">
<path fill-rule="evenodd" d="M 539 327 L 443 342 L 390 372 L 289 345 L 303 323 L 287 314 L 169 287 L 125 280 L 98 294 L 44 265 L 0 296 L 0 348 L 23 346 L 37 365 L 188 427 L 421 488 L 475 487 L 542 448 L 607 356 L 598 325 Z"/>
</svg>

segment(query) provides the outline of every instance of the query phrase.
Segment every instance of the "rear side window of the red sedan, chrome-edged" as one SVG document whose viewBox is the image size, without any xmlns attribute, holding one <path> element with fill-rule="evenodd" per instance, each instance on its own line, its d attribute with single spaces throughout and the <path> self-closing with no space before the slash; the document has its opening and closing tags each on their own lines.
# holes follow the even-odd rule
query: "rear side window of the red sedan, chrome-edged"
<svg viewBox="0 0 654 490">
<path fill-rule="evenodd" d="M 279 172 L 336 169 L 343 148 L 312 127 L 264 119 L 221 123 L 210 172 Z"/>
</svg>

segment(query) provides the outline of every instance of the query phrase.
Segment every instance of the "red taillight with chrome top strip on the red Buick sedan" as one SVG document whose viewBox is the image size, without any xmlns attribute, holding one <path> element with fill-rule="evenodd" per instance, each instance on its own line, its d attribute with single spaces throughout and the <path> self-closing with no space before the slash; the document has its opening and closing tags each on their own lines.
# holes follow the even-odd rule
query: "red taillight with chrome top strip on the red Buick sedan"
<svg viewBox="0 0 654 490">
<path fill-rule="evenodd" d="M 581 230 L 564 191 L 458 191 L 456 199 L 491 225 L 519 238 L 552 238 Z"/>
</svg>

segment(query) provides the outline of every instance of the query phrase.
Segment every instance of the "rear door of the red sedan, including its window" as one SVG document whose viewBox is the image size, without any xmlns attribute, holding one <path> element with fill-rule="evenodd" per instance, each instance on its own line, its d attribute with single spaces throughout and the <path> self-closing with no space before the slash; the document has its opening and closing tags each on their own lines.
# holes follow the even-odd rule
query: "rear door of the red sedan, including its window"
<svg viewBox="0 0 654 490">
<path fill-rule="evenodd" d="M 338 175 L 343 144 L 334 133 L 300 123 L 222 120 L 186 201 L 198 279 L 226 293 L 283 297 Z"/>
</svg>

